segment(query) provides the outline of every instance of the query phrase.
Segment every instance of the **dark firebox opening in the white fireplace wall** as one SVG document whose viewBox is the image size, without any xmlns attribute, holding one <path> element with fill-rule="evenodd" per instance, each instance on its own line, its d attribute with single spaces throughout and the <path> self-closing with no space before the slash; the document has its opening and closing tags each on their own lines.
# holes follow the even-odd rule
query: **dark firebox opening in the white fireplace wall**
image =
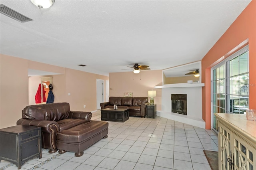
<svg viewBox="0 0 256 170">
<path fill-rule="evenodd" d="M 187 95 L 171 94 L 172 113 L 187 115 Z"/>
</svg>

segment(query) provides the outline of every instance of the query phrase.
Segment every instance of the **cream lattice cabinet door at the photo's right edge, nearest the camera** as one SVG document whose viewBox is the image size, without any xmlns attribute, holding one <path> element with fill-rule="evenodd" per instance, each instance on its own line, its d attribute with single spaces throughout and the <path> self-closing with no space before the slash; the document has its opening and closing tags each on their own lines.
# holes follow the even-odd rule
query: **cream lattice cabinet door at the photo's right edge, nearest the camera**
<svg viewBox="0 0 256 170">
<path fill-rule="evenodd" d="M 256 169 L 256 149 L 234 132 L 232 133 L 232 138 L 234 141 L 234 169 Z"/>
</svg>

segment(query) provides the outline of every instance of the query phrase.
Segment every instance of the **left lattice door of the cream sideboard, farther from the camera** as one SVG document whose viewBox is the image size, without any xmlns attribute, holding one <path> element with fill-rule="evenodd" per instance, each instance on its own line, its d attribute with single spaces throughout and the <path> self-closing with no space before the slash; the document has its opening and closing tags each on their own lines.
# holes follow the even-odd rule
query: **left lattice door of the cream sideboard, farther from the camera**
<svg viewBox="0 0 256 170">
<path fill-rule="evenodd" d="M 231 131 L 221 123 L 219 123 L 219 128 L 219 168 L 231 170 L 230 162 L 228 162 L 228 159 L 231 159 Z"/>
</svg>

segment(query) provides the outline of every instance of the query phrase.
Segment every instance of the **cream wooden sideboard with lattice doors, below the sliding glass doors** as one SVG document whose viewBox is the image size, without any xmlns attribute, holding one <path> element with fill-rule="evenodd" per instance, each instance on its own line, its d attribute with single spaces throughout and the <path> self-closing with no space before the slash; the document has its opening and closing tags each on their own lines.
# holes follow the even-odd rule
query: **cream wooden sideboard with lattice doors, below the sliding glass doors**
<svg viewBox="0 0 256 170">
<path fill-rule="evenodd" d="M 256 122 L 244 114 L 215 113 L 219 170 L 256 170 Z"/>
</svg>

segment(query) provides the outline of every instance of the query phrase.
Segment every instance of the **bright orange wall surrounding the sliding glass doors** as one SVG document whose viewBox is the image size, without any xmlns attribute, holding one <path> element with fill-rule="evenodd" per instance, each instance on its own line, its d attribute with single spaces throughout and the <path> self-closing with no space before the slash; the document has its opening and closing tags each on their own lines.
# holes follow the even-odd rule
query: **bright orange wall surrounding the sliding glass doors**
<svg viewBox="0 0 256 170">
<path fill-rule="evenodd" d="M 202 59 L 202 119 L 211 128 L 211 71 L 210 68 L 230 54 L 249 44 L 249 108 L 256 109 L 256 1 L 252 0 Z"/>
</svg>

